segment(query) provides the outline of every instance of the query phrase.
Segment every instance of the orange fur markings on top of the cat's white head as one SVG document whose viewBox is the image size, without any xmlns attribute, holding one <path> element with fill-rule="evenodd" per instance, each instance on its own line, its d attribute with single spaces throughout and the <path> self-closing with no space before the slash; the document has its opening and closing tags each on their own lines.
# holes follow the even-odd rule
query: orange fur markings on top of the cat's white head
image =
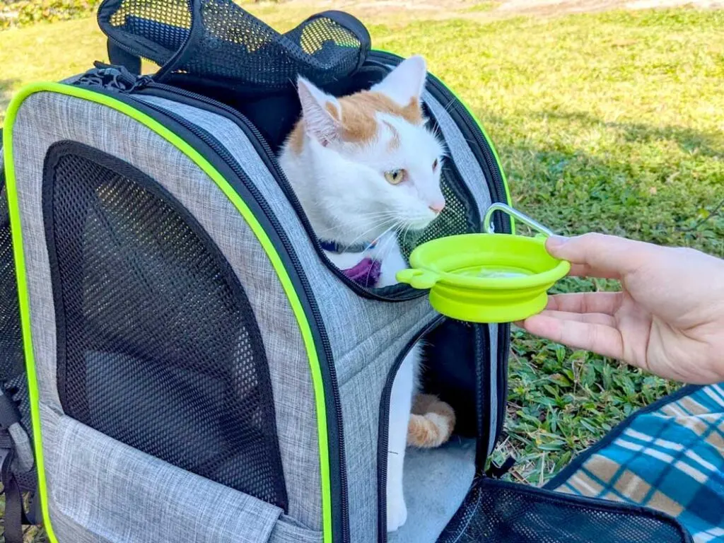
<svg viewBox="0 0 724 543">
<path fill-rule="evenodd" d="M 406 106 L 399 106 L 392 98 L 382 93 L 362 90 L 361 92 L 337 98 L 342 109 L 342 140 L 348 143 L 369 143 L 377 135 L 378 113 L 401 117 L 413 125 L 422 125 L 424 118 L 420 102 L 413 98 Z M 325 109 L 334 119 L 340 120 L 340 111 L 334 104 L 327 104 Z M 392 140 L 390 148 L 401 145 L 400 135 L 390 123 Z M 299 154 L 304 146 L 304 119 L 300 119 L 289 135 L 289 145 L 292 151 Z"/>
</svg>

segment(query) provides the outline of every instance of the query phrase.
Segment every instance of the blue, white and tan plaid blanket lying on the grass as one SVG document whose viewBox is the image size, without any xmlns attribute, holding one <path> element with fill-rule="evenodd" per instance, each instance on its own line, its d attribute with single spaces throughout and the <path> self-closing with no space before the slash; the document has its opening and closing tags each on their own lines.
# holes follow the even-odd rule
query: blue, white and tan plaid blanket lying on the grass
<svg viewBox="0 0 724 543">
<path fill-rule="evenodd" d="M 546 487 L 658 509 L 694 542 L 724 543 L 724 384 L 639 411 Z"/>
</svg>

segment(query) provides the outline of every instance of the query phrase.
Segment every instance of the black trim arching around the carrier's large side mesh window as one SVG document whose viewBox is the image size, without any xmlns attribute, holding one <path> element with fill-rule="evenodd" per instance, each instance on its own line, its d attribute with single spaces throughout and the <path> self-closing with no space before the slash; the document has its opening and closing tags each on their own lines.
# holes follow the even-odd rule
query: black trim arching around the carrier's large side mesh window
<svg viewBox="0 0 724 543">
<path fill-rule="evenodd" d="M 72 140 L 63 140 L 58 143 L 54 143 L 48 148 L 43 166 L 43 222 L 45 223 L 46 243 L 48 247 L 50 269 L 51 269 L 51 285 L 53 290 L 54 305 L 56 311 L 56 331 L 57 331 L 57 344 L 58 344 L 58 374 L 59 374 L 59 395 L 61 404 L 64 407 L 64 411 L 69 413 L 69 403 L 67 401 L 67 394 L 65 386 L 67 384 L 67 378 L 65 376 L 66 364 L 66 333 L 65 333 L 65 316 L 64 316 L 64 305 L 62 300 L 62 286 L 59 274 L 59 265 L 55 243 L 54 233 L 54 189 L 55 189 L 55 170 L 56 166 L 61 159 L 66 156 L 79 156 L 85 160 L 91 161 L 100 167 L 109 169 L 111 172 L 115 172 L 122 177 L 132 180 L 143 190 L 148 191 L 151 195 L 159 200 L 167 203 L 175 213 L 177 213 L 183 222 L 189 227 L 191 232 L 201 241 L 206 251 L 209 252 L 209 256 L 213 259 L 216 266 L 222 276 L 224 282 L 229 285 L 232 295 L 236 300 L 239 300 L 240 306 L 244 308 L 251 308 L 251 303 L 248 300 L 245 290 L 239 282 L 236 274 L 232 270 L 229 262 L 224 258 L 222 251 L 218 245 L 214 243 L 206 230 L 201 227 L 198 220 L 191 214 L 191 212 L 182 206 L 182 204 L 166 190 L 163 186 L 159 185 L 158 182 L 153 180 L 147 174 L 140 171 L 140 169 L 132 166 L 126 161 L 118 159 L 115 156 L 111 156 L 108 153 L 104 153 L 97 148 L 87 146 L 83 143 L 78 143 Z M 103 180 L 98 180 L 100 183 Z M 62 316 L 61 319 L 57 319 L 57 316 Z M 282 468 L 282 457 L 279 452 L 279 440 L 277 432 L 277 417 L 275 415 L 274 408 L 274 397 L 271 392 L 271 376 L 269 375 L 269 362 L 266 358 L 266 350 L 264 349 L 264 341 L 261 337 L 261 331 L 259 330 L 256 317 L 251 312 L 245 311 L 243 318 L 243 326 L 246 333 L 249 336 L 250 344 L 256 347 L 255 357 L 258 359 L 256 363 L 256 375 L 259 381 L 258 390 L 261 394 L 261 405 L 266 408 L 265 417 L 269 418 L 265 424 L 269 425 L 270 434 L 264 434 L 266 443 L 264 444 L 265 450 L 269 453 L 271 463 L 274 472 L 277 474 L 274 477 L 274 494 L 279 497 L 279 500 L 274 504 L 279 508 L 287 512 L 288 498 L 287 489 L 284 478 L 284 470 Z M 62 369 L 62 371 L 60 371 Z M 60 375 L 63 375 L 62 386 Z M 87 406 L 85 406 L 87 408 Z M 86 418 L 85 420 L 88 420 Z"/>
</svg>

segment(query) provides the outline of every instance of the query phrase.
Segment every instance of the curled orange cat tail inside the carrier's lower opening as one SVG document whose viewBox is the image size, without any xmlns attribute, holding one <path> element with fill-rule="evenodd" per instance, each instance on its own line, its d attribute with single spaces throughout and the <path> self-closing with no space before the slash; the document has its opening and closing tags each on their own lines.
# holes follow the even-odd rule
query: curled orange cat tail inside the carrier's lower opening
<svg viewBox="0 0 724 543">
<path fill-rule="evenodd" d="M 437 397 L 421 394 L 415 399 L 408 424 L 408 445 L 439 447 L 450 439 L 455 428 L 455 411 Z"/>
</svg>

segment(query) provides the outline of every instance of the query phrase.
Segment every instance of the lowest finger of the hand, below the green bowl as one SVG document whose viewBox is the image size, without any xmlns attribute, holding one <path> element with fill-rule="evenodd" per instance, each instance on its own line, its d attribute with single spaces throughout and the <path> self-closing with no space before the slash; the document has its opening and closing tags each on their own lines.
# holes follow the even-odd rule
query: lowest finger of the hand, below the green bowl
<svg viewBox="0 0 724 543">
<path fill-rule="evenodd" d="M 521 327 L 531 334 L 563 343 L 573 349 L 590 350 L 610 358 L 623 358 L 623 339 L 615 327 L 558 318 L 544 311 L 526 319 Z"/>
</svg>

